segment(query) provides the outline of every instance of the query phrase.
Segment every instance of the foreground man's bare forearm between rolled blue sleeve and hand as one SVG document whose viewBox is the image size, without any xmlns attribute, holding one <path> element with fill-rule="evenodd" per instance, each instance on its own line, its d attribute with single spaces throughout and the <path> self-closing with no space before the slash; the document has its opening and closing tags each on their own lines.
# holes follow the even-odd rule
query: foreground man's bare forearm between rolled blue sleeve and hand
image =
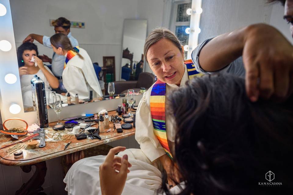
<svg viewBox="0 0 293 195">
<path fill-rule="evenodd" d="M 246 28 L 219 35 L 201 49 L 199 63 L 208 72 L 224 68 L 242 55 Z"/>
</svg>

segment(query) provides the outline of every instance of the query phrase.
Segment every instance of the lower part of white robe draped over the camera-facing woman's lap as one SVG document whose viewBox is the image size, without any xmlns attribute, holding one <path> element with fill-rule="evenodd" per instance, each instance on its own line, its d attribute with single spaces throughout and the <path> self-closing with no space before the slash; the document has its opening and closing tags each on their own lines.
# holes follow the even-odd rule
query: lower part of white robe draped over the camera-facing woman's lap
<svg viewBox="0 0 293 195">
<path fill-rule="evenodd" d="M 118 156 L 128 155 L 128 162 L 132 164 L 129 168 L 127 180 L 122 195 L 153 195 L 161 187 L 161 165 L 152 163 L 141 150 L 128 149 L 120 152 Z M 99 165 L 101 165 L 106 156 L 95 156 L 84 158 L 77 161 L 67 172 L 64 178 L 66 183 L 65 190 L 70 195 L 101 195 L 99 181 Z M 115 183 L 109 183 L 115 187 Z M 184 183 L 181 184 L 184 186 Z M 179 186 L 173 187 L 170 192 L 179 193 Z M 165 194 L 165 193 L 163 193 Z"/>
</svg>

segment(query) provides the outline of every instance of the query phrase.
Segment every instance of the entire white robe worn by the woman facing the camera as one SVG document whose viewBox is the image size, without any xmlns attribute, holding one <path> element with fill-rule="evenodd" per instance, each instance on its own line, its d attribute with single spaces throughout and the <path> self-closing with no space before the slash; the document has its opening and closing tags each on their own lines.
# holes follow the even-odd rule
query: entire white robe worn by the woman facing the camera
<svg viewBox="0 0 293 195">
<path fill-rule="evenodd" d="M 185 69 L 180 87 L 188 80 L 187 69 Z M 166 84 L 166 94 L 179 87 L 175 84 Z M 150 92 L 152 87 L 143 94 L 136 111 L 136 133 L 135 138 L 141 149 L 127 149 L 120 152 L 118 156 L 128 155 L 128 161 L 132 164 L 129 168 L 125 188 L 122 194 L 144 195 L 155 194 L 155 190 L 162 185 L 160 161 L 156 160 L 166 154 L 161 144 L 153 133 L 153 123 L 150 114 Z M 166 117 L 167 139 L 174 142 L 175 131 L 172 121 Z M 65 179 L 65 190 L 68 194 L 100 194 L 99 165 L 106 156 L 95 156 L 81 159 L 74 163 L 67 172 Z M 114 185 L 114 184 L 110 184 Z M 137 191 L 136 191 L 137 190 Z M 173 187 L 170 191 L 178 193 L 180 188 Z"/>
</svg>

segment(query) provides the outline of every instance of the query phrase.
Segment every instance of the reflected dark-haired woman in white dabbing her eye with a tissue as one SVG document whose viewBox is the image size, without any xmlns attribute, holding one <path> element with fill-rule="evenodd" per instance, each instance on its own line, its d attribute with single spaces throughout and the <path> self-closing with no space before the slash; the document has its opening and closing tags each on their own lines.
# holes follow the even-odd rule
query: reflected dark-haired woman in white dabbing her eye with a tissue
<svg viewBox="0 0 293 195">
<path fill-rule="evenodd" d="M 44 81 L 46 94 L 52 88 L 58 88 L 59 86 L 58 79 L 37 55 L 38 47 L 33 43 L 24 43 L 17 48 L 21 92 L 25 106 L 33 106 L 31 79 L 35 74 Z"/>
</svg>

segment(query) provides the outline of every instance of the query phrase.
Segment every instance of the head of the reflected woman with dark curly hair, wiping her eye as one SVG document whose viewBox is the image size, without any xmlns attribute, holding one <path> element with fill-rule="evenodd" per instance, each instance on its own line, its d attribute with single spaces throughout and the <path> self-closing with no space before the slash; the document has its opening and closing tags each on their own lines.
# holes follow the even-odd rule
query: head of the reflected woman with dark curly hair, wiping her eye
<svg viewBox="0 0 293 195">
<path fill-rule="evenodd" d="M 38 47 L 33 43 L 23 43 L 17 48 L 17 62 L 18 66 L 34 66 L 31 62 L 32 56 L 38 56 Z"/>
</svg>

